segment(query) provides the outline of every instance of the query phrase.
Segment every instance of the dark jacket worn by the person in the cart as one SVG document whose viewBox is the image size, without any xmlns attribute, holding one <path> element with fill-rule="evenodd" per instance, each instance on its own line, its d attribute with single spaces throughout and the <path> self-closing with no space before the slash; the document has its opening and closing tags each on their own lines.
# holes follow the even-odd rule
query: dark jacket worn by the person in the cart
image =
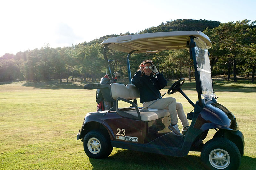
<svg viewBox="0 0 256 170">
<path fill-rule="evenodd" d="M 167 85 L 163 74 L 157 74 L 157 77 L 143 75 L 141 71 L 135 73 L 132 77 L 134 84 L 140 91 L 140 103 L 156 100 L 161 96 L 160 90 Z"/>
</svg>

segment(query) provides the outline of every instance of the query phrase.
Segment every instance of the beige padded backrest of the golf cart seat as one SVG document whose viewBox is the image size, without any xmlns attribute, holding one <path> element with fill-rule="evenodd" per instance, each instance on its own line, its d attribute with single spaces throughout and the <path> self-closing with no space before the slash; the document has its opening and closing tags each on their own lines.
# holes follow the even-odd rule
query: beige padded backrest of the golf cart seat
<svg viewBox="0 0 256 170">
<path fill-rule="evenodd" d="M 121 97 L 127 100 L 140 98 L 139 89 L 133 84 L 124 84 L 113 83 L 110 84 L 110 95 L 116 100 L 117 97 Z"/>
</svg>

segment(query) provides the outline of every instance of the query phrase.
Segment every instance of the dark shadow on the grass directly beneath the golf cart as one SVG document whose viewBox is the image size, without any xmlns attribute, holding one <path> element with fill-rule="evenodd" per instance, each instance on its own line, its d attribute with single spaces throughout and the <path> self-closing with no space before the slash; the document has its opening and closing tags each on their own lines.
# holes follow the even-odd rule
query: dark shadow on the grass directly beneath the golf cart
<svg viewBox="0 0 256 170">
<path fill-rule="evenodd" d="M 152 153 L 117 150 L 117 153 L 105 159 L 89 158 L 93 170 L 101 169 L 189 169 L 204 170 L 199 156 L 187 155 L 185 157 L 171 157 Z M 238 169 L 254 170 L 256 159 L 243 156 Z"/>
</svg>

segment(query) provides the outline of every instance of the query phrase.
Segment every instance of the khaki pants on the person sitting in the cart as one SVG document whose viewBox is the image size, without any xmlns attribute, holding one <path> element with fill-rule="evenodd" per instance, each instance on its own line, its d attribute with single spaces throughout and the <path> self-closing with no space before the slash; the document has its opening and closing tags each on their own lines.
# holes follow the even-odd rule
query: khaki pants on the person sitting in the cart
<svg viewBox="0 0 256 170">
<path fill-rule="evenodd" d="M 143 107 L 149 106 L 155 100 L 150 102 L 144 102 Z M 162 98 L 152 104 L 149 108 L 152 109 L 169 109 L 171 123 L 175 124 L 178 123 L 178 117 L 181 121 L 183 127 L 189 126 L 188 120 L 184 113 L 183 107 L 181 103 L 176 102 L 176 99 L 173 97 Z M 178 114 L 178 117 L 177 117 Z"/>
</svg>

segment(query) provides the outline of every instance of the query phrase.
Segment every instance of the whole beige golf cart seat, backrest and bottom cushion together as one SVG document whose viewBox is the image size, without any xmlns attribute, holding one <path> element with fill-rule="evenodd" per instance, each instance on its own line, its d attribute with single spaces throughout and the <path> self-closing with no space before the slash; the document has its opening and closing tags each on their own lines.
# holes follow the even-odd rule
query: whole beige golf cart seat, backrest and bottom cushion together
<svg viewBox="0 0 256 170">
<path fill-rule="evenodd" d="M 116 108 L 116 112 L 118 114 L 121 114 L 121 116 L 123 117 L 133 119 L 138 118 L 138 120 L 148 122 L 170 115 L 168 109 L 143 112 L 141 109 L 137 107 L 136 104 L 134 104 L 132 101 L 129 101 L 132 99 L 140 98 L 139 89 L 133 84 L 127 84 L 126 86 L 124 84 L 118 83 L 110 84 L 110 95 L 111 98 L 117 100 L 117 103 L 119 100 L 122 100 L 133 105 L 133 107 L 130 108 Z"/>
</svg>

